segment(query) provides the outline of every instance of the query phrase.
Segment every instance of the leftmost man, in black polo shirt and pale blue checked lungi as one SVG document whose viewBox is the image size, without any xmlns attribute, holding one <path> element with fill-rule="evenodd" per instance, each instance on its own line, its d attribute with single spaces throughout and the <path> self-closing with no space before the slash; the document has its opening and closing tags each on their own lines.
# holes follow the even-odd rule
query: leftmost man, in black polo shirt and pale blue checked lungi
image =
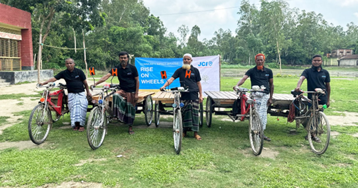
<svg viewBox="0 0 358 188">
<path fill-rule="evenodd" d="M 65 60 L 67 69 L 61 71 L 53 78 L 48 79 L 40 85 L 47 84 L 48 82 L 54 82 L 63 78 L 66 81 L 68 91 L 68 108 L 71 116 L 71 126 L 73 130 L 80 132 L 84 131 L 84 124 L 86 122 L 88 101 L 84 93 L 86 88 L 87 96 L 91 97 L 91 93 L 88 90 L 86 76 L 81 69 L 75 68 L 75 63 L 72 58 Z"/>
</svg>

